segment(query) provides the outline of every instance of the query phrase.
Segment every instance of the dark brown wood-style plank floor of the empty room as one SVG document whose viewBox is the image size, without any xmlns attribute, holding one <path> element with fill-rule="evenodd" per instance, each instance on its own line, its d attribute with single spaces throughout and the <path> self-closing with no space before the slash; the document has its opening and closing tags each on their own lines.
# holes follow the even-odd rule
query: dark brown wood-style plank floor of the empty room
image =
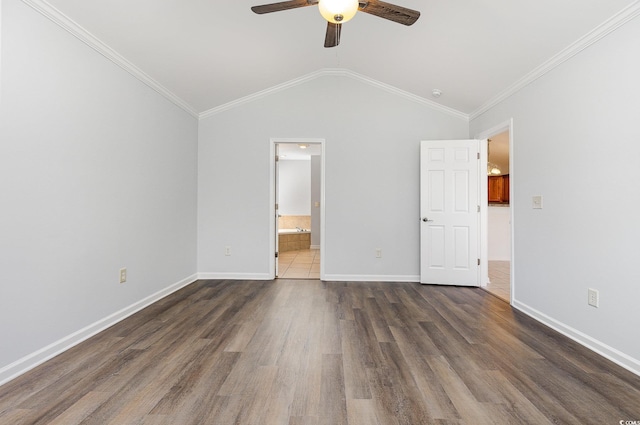
<svg viewBox="0 0 640 425">
<path fill-rule="evenodd" d="M 199 281 L 0 387 L 2 424 L 618 424 L 640 378 L 473 288 Z"/>
</svg>

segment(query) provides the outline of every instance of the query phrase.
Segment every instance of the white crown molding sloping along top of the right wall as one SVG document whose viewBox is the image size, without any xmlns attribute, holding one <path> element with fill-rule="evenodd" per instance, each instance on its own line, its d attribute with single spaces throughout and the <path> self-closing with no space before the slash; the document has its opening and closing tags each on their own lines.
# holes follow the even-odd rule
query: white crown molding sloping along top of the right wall
<svg viewBox="0 0 640 425">
<path fill-rule="evenodd" d="M 531 84 L 538 78 L 542 77 L 549 71 L 557 68 L 565 61 L 571 59 L 573 56 L 577 55 L 587 47 L 611 34 L 613 31 L 617 30 L 627 22 L 632 19 L 640 16 L 640 0 L 636 0 L 631 3 L 629 6 L 622 9 L 620 12 L 616 13 L 611 18 L 607 19 L 605 22 L 600 24 L 598 27 L 587 33 L 585 36 L 579 38 L 576 42 L 566 47 L 564 50 L 560 51 L 560 53 L 553 56 L 551 59 L 544 62 L 542 65 L 533 69 L 527 75 L 513 83 L 511 86 L 507 87 L 504 91 L 499 93 L 497 96 L 491 98 L 489 101 L 484 103 L 478 109 L 473 111 L 469 118 L 471 120 L 479 117 L 483 113 L 487 112 L 489 109 L 493 108 L 500 102 L 504 101 L 508 97 L 514 95 L 518 91 L 522 90 L 527 85 Z"/>
</svg>

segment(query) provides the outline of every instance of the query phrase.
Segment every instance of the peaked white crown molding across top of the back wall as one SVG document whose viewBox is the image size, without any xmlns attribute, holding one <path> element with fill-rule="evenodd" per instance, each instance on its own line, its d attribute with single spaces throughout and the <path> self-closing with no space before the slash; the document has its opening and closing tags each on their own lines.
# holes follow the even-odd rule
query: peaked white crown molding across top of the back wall
<svg viewBox="0 0 640 425">
<path fill-rule="evenodd" d="M 469 115 L 457 111 L 452 108 L 448 108 L 446 106 L 440 105 L 439 103 L 433 102 L 429 99 L 425 99 L 423 97 L 417 96 L 413 93 L 409 93 L 407 91 L 401 90 L 397 87 L 391 86 L 389 84 L 382 83 L 380 81 L 374 80 L 373 78 L 366 77 L 364 75 L 358 74 L 356 72 L 350 71 L 348 69 L 342 68 L 324 68 L 318 71 L 314 71 L 310 74 L 303 75 L 302 77 L 295 78 L 293 80 L 289 80 L 282 84 L 278 84 L 271 88 L 261 90 L 259 92 L 250 94 L 248 96 L 241 97 L 232 102 L 225 103 L 224 105 L 217 106 L 213 109 L 209 109 L 208 111 L 204 111 L 200 114 L 200 119 L 209 118 L 213 115 L 216 115 L 220 112 L 227 111 L 229 109 L 235 108 L 237 106 L 244 105 L 249 102 L 253 102 L 254 100 L 261 99 L 263 97 L 269 96 L 274 93 L 278 93 L 280 91 L 286 90 L 291 87 L 295 87 L 297 85 L 306 83 L 308 81 L 315 80 L 320 77 L 326 76 L 341 76 L 341 77 L 349 77 L 354 80 L 369 84 L 370 86 L 377 87 L 379 89 L 385 90 L 389 93 L 395 94 L 397 96 L 404 97 L 405 99 L 417 102 L 421 105 L 426 105 L 430 108 L 436 109 L 438 111 L 444 112 L 448 115 L 453 115 L 456 118 L 463 119 L 465 121 L 469 121 Z"/>
</svg>

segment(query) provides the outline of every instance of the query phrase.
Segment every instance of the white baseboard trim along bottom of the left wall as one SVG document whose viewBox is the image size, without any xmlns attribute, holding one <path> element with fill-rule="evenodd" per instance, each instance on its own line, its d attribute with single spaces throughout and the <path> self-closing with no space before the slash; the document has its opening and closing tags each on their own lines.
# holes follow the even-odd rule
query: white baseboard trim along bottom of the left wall
<svg viewBox="0 0 640 425">
<path fill-rule="evenodd" d="M 170 295 L 173 292 L 176 292 L 179 289 L 190 285 L 196 280 L 196 275 L 192 275 L 185 279 L 182 279 L 172 285 L 169 285 L 165 289 L 162 289 L 154 294 L 149 295 L 146 298 L 141 299 L 140 301 L 131 304 L 128 307 L 123 308 L 122 310 L 116 311 L 115 313 L 112 313 L 109 316 L 90 324 L 89 326 L 86 326 L 70 335 L 67 335 L 64 338 L 52 344 L 49 344 L 38 351 L 35 351 L 24 356 L 21 359 L 16 360 L 15 362 L 0 369 L 0 385 L 7 383 L 14 378 L 17 378 L 23 373 L 28 372 L 34 367 L 54 358 L 58 354 L 67 351 L 68 349 L 80 344 L 83 341 L 86 341 L 92 336 L 126 319 L 134 313 L 137 313 L 145 307 L 161 300 L 167 295 Z"/>
</svg>

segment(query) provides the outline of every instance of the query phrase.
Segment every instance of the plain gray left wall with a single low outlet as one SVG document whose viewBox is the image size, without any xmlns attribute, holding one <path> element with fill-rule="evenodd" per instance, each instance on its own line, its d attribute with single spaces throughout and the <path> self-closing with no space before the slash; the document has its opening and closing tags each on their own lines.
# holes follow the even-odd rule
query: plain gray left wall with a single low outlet
<svg viewBox="0 0 640 425">
<path fill-rule="evenodd" d="M 195 118 L 24 3 L 2 20 L 0 382 L 195 276 L 197 205 Z"/>
</svg>

